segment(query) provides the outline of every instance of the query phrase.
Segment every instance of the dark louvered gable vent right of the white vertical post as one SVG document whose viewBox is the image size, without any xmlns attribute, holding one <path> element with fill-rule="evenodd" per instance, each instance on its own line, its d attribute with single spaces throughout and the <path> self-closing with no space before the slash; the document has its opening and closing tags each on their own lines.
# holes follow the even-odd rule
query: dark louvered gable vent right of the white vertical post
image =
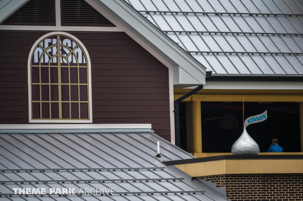
<svg viewBox="0 0 303 201">
<path fill-rule="evenodd" d="M 61 0 L 61 25 L 115 27 L 83 0 Z"/>
</svg>

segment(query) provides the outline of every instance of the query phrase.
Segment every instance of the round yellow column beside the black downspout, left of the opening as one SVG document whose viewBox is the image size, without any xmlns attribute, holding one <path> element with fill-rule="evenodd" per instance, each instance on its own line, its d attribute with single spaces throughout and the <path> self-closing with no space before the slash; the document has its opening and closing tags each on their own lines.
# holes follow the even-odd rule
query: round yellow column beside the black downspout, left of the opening
<svg viewBox="0 0 303 201">
<path fill-rule="evenodd" d="M 202 153 L 201 101 L 192 101 L 193 152 Z"/>
</svg>

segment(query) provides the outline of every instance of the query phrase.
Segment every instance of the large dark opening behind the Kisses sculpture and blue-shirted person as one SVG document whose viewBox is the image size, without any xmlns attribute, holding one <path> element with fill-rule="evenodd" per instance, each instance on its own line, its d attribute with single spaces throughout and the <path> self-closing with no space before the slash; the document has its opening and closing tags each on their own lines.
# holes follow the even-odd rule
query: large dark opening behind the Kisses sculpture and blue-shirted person
<svg viewBox="0 0 303 201">
<path fill-rule="evenodd" d="M 201 102 L 202 152 L 231 152 L 243 131 L 242 102 Z M 244 102 L 244 119 L 267 110 L 268 118 L 249 125 L 248 134 L 267 152 L 277 138 L 284 152 L 300 152 L 299 104 L 294 102 Z"/>
</svg>

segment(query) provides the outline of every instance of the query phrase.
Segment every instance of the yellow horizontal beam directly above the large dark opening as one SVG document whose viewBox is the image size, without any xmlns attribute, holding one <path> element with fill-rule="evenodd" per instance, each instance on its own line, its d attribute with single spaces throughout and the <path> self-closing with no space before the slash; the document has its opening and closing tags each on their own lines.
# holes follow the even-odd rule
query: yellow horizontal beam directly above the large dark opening
<svg viewBox="0 0 303 201">
<path fill-rule="evenodd" d="M 174 99 L 178 99 L 182 94 L 175 94 Z M 242 102 L 303 102 L 303 96 L 299 95 L 218 95 L 218 94 L 194 94 L 184 100 L 186 101 L 231 101 Z"/>
</svg>

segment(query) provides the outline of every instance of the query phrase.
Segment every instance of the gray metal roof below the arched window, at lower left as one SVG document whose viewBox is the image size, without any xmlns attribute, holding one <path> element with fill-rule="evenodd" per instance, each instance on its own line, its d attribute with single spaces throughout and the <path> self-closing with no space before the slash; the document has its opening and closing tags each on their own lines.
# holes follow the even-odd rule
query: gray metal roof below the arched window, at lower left
<svg viewBox="0 0 303 201">
<path fill-rule="evenodd" d="M 157 141 L 162 158 L 154 157 Z M 46 193 L 49 188 L 75 188 L 76 194 L 80 188 L 115 188 L 115 192 L 123 193 L 12 195 L 0 196 L 0 201 L 227 200 L 160 162 L 189 158 L 194 157 L 151 132 L 1 133 L 0 193 L 14 193 L 12 188 L 46 188 Z M 29 170 L 33 168 L 36 170 Z"/>
</svg>

